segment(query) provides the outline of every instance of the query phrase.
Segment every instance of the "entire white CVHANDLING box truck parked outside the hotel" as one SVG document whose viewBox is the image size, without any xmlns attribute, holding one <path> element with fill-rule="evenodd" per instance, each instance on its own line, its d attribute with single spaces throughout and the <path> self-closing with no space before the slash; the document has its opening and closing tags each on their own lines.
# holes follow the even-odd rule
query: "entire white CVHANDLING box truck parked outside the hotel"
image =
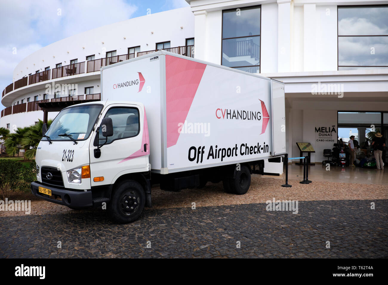
<svg viewBox="0 0 388 285">
<path fill-rule="evenodd" d="M 36 151 L 37 197 L 106 206 L 118 223 L 151 207 L 151 185 L 223 182 L 244 194 L 286 152 L 284 84 L 158 51 L 103 67 L 102 100 L 63 109 Z"/>
</svg>

